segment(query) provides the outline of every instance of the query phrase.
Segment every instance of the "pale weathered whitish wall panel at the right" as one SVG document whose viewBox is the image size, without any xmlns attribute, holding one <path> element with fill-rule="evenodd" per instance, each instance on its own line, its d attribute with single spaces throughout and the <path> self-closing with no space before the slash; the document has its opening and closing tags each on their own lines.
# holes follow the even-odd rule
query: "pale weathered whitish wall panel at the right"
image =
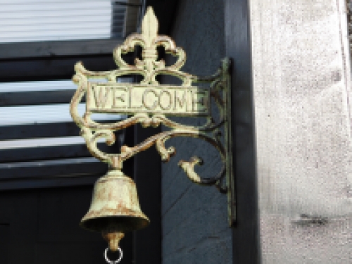
<svg viewBox="0 0 352 264">
<path fill-rule="evenodd" d="M 263 263 L 352 261 L 351 65 L 344 5 L 251 1 Z"/>
</svg>

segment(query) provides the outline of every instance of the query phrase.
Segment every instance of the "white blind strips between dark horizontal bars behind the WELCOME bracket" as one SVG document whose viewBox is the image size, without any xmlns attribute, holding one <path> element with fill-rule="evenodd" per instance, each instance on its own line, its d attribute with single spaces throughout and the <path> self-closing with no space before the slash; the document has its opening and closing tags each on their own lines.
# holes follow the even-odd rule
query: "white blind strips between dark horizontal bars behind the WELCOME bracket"
<svg viewBox="0 0 352 264">
<path fill-rule="evenodd" d="M 105 82 L 105 80 L 96 80 L 97 82 Z M 127 80 L 120 79 L 119 82 L 127 82 Z M 0 83 L 0 98 L 1 93 L 5 92 L 35 92 L 35 91 L 58 91 L 70 90 L 73 92 L 77 89 L 77 85 L 72 80 L 57 80 L 57 81 L 39 81 L 39 82 L 6 82 Z M 48 124 L 60 122 L 73 122 L 70 115 L 68 103 L 53 103 L 36 106 L 6 106 L 0 107 L 0 130 L 3 126 L 12 125 L 34 125 L 34 124 Z M 78 112 L 83 115 L 85 111 L 85 103 L 80 103 Z M 117 122 L 125 119 L 126 115 L 118 114 L 103 114 L 94 113 L 92 119 L 99 122 L 99 120 L 109 120 Z M 104 142 L 99 139 L 99 142 Z M 0 141 L 1 149 L 23 149 L 33 148 L 38 146 L 60 146 L 60 145 L 74 145 L 84 144 L 83 137 L 79 135 L 75 137 L 50 137 L 40 139 L 15 139 Z"/>
</svg>

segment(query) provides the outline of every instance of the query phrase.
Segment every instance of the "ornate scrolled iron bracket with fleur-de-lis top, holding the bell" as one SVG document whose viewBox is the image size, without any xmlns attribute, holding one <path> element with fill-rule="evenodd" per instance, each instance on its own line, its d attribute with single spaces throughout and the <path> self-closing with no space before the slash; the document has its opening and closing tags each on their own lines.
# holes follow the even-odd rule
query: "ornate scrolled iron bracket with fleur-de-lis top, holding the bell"
<svg viewBox="0 0 352 264">
<path fill-rule="evenodd" d="M 135 46 L 142 46 L 142 59 L 136 58 L 134 65 L 126 63 L 122 54 L 134 51 Z M 167 54 L 177 57 L 173 65 L 165 65 L 158 60 L 157 47 L 163 46 Z M 99 160 L 110 165 L 111 169 L 121 170 L 123 161 L 140 151 L 155 145 L 163 161 L 169 161 L 175 154 L 175 147 L 165 147 L 165 142 L 172 137 L 194 137 L 204 139 L 218 149 L 223 166 L 215 177 L 201 178 L 194 166 L 201 165 L 201 158 L 193 157 L 190 161 L 180 161 L 180 167 L 189 179 L 197 184 L 215 185 L 229 196 L 230 225 L 234 222 L 234 184 L 232 182 L 232 144 L 230 115 L 230 60 L 225 58 L 219 70 L 210 77 L 197 77 L 180 70 L 186 61 L 183 49 L 177 47 L 170 37 L 158 35 L 158 20 L 152 8 L 148 8 L 142 21 L 142 34 L 131 34 L 125 42 L 113 51 L 117 70 L 93 72 L 84 68 L 82 63 L 75 65 L 73 82 L 78 85 L 70 103 L 73 120 L 81 128 L 89 151 Z M 142 75 L 139 84 L 118 83 L 123 75 Z M 173 75 L 182 80 L 182 85 L 159 84 L 157 75 Z M 92 82 L 94 79 L 106 79 L 107 82 Z M 209 87 L 197 87 L 192 84 L 206 82 Z M 86 111 L 80 116 L 78 103 L 86 96 Z M 213 117 L 211 101 L 215 102 L 219 116 Z M 110 124 L 100 124 L 92 120 L 92 113 L 125 113 L 130 118 Z M 197 127 L 182 125 L 166 115 L 203 117 L 206 122 Z M 143 127 L 157 127 L 161 124 L 170 130 L 156 134 L 137 146 L 122 146 L 120 153 L 104 153 L 97 147 L 98 139 L 106 139 L 106 144 L 115 142 L 114 131 L 122 130 L 137 123 Z M 222 128 L 223 127 L 223 128 Z M 223 133 L 222 133 L 223 131 Z M 226 183 L 223 182 L 226 178 Z"/>
</svg>

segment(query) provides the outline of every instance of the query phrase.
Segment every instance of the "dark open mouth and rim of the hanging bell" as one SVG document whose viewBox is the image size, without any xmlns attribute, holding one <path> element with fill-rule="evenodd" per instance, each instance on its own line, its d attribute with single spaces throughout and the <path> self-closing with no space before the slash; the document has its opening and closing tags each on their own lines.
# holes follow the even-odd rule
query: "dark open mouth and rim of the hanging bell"
<svg viewBox="0 0 352 264">
<path fill-rule="evenodd" d="M 149 225 L 149 220 L 135 216 L 101 216 L 82 220 L 80 227 L 95 232 L 130 232 Z"/>
</svg>

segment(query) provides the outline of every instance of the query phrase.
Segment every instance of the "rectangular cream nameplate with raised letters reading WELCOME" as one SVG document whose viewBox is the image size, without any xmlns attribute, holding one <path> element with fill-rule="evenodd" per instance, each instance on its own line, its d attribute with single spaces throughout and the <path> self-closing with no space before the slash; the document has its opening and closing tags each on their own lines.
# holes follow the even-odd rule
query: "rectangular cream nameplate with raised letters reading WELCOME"
<svg viewBox="0 0 352 264">
<path fill-rule="evenodd" d="M 210 116 L 210 88 L 118 83 L 89 84 L 87 111 Z"/>
</svg>

